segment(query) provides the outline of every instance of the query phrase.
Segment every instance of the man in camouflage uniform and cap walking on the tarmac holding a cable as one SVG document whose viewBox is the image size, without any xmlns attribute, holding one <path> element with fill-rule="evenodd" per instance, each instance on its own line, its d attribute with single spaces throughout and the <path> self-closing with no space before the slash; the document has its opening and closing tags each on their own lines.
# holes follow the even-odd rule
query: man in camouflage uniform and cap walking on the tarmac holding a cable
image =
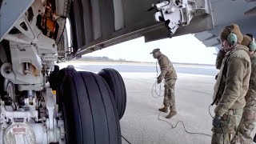
<svg viewBox="0 0 256 144">
<path fill-rule="evenodd" d="M 176 71 L 174 70 L 174 66 L 170 62 L 169 58 L 162 54 L 160 49 L 154 49 L 150 54 L 153 54 L 153 57 L 158 59 L 158 64 L 160 66 L 161 74 L 157 78 L 158 83 L 161 83 L 163 78 L 166 81 L 163 99 L 164 107 L 160 108 L 159 111 L 168 113 L 168 106 L 170 106 L 170 113 L 166 118 L 172 118 L 177 114 L 174 95 L 174 87 L 177 80 Z"/>
</svg>

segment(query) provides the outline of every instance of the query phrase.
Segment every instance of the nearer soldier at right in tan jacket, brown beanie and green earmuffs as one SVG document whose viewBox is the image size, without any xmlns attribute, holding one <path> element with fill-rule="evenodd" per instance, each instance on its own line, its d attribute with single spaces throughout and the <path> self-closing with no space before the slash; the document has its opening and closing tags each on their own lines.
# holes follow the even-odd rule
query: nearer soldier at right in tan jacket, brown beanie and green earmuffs
<svg viewBox="0 0 256 144">
<path fill-rule="evenodd" d="M 249 89 L 251 62 L 249 48 L 241 45 L 243 35 L 239 26 L 226 26 L 221 34 L 222 49 L 226 54 L 214 86 L 212 144 L 230 144 L 238 130 L 245 96 Z"/>
</svg>

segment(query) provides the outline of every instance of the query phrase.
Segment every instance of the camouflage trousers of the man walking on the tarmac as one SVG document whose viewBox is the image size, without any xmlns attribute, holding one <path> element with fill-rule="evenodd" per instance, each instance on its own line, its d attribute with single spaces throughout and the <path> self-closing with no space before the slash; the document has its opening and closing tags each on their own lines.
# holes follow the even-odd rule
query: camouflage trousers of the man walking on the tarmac
<svg viewBox="0 0 256 144">
<path fill-rule="evenodd" d="M 175 88 L 176 79 L 170 79 L 166 81 L 165 84 L 165 93 L 163 98 L 164 106 L 170 106 L 170 110 L 175 111 L 175 95 L 174 95 L 174 88 Z"/>
</svg>

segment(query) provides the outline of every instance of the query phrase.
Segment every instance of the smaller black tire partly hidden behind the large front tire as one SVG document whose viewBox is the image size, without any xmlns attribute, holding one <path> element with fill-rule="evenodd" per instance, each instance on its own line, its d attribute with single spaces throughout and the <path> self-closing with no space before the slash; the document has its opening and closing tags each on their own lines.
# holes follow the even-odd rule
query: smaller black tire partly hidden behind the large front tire
<svg viewBox="0 0 256 144">
<path fill-rule="evenodd" d="M 102 76 L 110 86 L 110 90 L 117 104 L 119 119 L 121 119 L 126 111 L 126 86 L 121 74 L 119 74 L 117 70 L 110 68 L 102 69 L 98 74 Z"/>
</svg>

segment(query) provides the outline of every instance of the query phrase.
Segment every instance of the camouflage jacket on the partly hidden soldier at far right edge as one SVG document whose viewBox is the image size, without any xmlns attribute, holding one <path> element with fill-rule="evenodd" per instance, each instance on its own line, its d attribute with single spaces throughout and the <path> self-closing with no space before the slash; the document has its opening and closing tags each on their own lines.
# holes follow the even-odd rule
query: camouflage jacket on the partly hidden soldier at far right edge
<svg viewBox="0 0 256 144">
<path fill-rule="evenodd" d="M 256 54 L 252 55 L 249 90 L 246 94 L 245 110 L 256 110 Z"/>
</svg>

